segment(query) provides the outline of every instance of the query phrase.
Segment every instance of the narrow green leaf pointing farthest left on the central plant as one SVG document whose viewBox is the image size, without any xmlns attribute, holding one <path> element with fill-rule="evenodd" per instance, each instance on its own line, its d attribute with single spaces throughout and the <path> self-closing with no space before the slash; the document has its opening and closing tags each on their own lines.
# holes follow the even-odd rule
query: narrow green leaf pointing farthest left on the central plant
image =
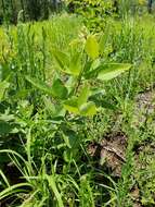
<svg viewBox="0 0 155 207">
<path fill-rule="evenodd" d="M 39 81 L 35 77 L 30 77 L 30 76 L 26 76 L 26 80 L 33 84 L 35 87 L 37 87 L 38 89 L 52 95 L 51 88 L 42 81 Z"/>
</svg>

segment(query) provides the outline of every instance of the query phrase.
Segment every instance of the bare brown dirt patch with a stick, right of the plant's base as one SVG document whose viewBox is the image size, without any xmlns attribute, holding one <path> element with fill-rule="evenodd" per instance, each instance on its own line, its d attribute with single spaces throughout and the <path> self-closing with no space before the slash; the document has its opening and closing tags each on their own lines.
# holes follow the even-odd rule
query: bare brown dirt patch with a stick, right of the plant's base
<svg viewBox="0 0 155 207">
<path fill-rule="evenodd" d="M 99 157 L 100 166 L 111 169 L 114 176 L 120 176 L 121 166 L 126 161 L 126 147 L 127 137 L 118 133 L 115 136 L 107 135 L 100 144 L 90 144 L 88 151 L 92 157 Z"/>
</svg>

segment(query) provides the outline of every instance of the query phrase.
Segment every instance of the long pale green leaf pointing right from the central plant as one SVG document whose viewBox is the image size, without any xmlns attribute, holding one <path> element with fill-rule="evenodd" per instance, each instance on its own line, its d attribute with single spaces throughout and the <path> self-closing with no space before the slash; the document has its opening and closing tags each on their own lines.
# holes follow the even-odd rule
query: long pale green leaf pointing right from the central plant
<svg viewBox="0 0 155 207">
<path fill-rule="evenodd" d="M 108 81 L 114 77 L 117 77 L 125 71 L 129 70 L 131 64 L 127 63 L 109 63 L 101 66 L 98 72 L 98 78 L 102 81 Z"/>
</svg>

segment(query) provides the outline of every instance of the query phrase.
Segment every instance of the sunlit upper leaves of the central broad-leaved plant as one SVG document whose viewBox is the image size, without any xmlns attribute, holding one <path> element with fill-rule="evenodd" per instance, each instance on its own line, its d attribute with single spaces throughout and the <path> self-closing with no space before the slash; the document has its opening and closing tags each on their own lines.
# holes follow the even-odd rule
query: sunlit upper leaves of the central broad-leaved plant
<svg viewBox="0 0 155 207">
<path fill-rule="evenodd" d="M 100 58 L 100 44 L 95 35 L 88 35 L 82 41 L 75 41 L 72 47 L 74 51 L 70 54 L 57 49 L 53 50 L 55 66 L 59 71 L 55 71 L 51 86 L 30 76 L 26 76 L 26 80 L 50 95 L 62 109 L 78 115 L 94 115 L 98 108 L 92 100 L 90 101 L 95 93 L 95 89 L 91 87 L 91 81 L 112 80 L 129 70 L 131 65 L 104 63 Z M 75 50 L 76 47 L 79 51 Z M 63 74 L 62 80 L 61 74 Z M 99 92 L 100 88 L 98 88 Z"/>
</svg>

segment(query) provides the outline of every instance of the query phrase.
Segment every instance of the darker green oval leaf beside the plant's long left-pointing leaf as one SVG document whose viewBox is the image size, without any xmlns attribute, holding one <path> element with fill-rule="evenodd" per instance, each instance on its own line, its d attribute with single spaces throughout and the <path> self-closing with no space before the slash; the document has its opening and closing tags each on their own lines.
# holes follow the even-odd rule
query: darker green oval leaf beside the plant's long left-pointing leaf
<svg viewBox="0 0 155 207">
<path fill-rule="evenodd" d="M 67 88 L 64 86 L 64 83 L 60 78 L 53 81 L 51 92 L 54 95 L 54 97 L 61 99 L 66 98 L 68 95 Z"/>
</svg>

